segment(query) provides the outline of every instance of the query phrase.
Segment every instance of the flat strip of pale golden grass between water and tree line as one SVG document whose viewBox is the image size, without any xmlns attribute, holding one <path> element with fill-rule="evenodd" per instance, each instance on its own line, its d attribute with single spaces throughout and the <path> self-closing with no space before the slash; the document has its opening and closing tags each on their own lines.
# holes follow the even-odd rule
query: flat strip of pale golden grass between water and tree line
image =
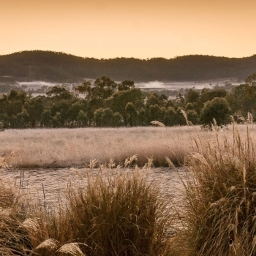
<svg viewBox="0 0 256 256">
<path fill-rule="evenodd" d="M 165 157 L 176 164 L 182 162 L 190 143 L 189 127 L 173 127 L 170 131 L 164 127 L 9 129 L 0 132 L 0 157 L 4 159 L 15 149 L 15 159 L 9 159 L 12 167 L 84 167 L 91 159 L 101 164 L 110 159 L 123 163 L 137 154 L 140 166 L 149 157 L 154 158 L 155 166 L 166 166 Z"/>
</svg>

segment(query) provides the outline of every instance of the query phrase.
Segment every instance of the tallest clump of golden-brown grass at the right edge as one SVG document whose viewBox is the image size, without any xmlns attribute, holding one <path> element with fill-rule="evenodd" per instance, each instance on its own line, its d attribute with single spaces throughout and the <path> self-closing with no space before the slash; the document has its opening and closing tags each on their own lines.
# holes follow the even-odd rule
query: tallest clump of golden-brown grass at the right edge
<svg viewBox="0 0 256 256">
<path fill-rule="evenodd" d="M 256 255 L 256 155 L 246 129 L 241 136 L 197 136 L 187 157 L 185 222 L 188 255 Z M 183 235 L 184 235 L 183 234 Z"/>
</svg>

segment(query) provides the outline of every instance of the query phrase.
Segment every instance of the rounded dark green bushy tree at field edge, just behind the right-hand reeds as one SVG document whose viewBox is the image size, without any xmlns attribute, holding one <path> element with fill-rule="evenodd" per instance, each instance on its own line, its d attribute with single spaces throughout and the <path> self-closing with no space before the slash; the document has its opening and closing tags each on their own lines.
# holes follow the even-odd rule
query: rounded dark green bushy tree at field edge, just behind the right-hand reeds
<svg viewBox="0 0 256 256">
<path fill-rule="evenodd" d="M 217 127 L 223 127 L 227 124 L 230 124 L 232 111 L 227 102 L 227 99 L 221 97 L 216 97 L 204 105 L 200 113 L 200 122 L 203 124 L 203 127 L 210 128 L 216 121 Z"/>
</svg>

